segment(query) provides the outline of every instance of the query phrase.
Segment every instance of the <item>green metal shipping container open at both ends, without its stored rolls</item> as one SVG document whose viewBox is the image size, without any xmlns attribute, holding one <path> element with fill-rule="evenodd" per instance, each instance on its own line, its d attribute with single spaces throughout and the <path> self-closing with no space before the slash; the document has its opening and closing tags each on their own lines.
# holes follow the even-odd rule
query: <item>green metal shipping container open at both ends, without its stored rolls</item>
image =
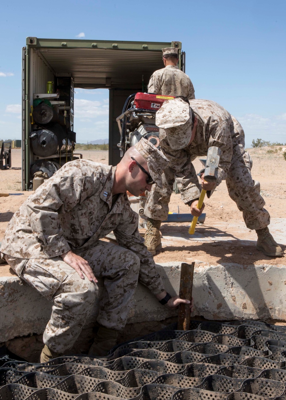
<svg viewBox="0 0 286 400">
<path fill-rule="evenodd" d="M 75 88 L 109 89 L 109 164 L 120 160 L 117 147 L 120 133 L 116 122 L 127 97 L 147 90 L 151 74 L 163 68 L 161 49 L 179 49 L 179 68 L 185 70 L 181 42 L 122 42 L 103 40 L 39 39 L 28 37 L 22 51 L 22 190 L 31 189 L 30 168 L 37 160 L 30 147 L 30 133 L 39 130 L 33 122 L 32 107 L 45 102 L 65 102 L 66 119 L 73 131 L 73 91 Z M 50 82 L 50 83 L 48 83 Z M 53 83 L 51 83 L 53 82 Z M 51 86 L 52 85 L 52 86 Z M 52 88 L 59 97 L 47 94 Z M 48 89 L 48 90 L 47 90 Z M 42 96 L 41 96 L 42 95 Z M 60 105 L 59 105 L 60 108 Z M 77 118 L 75 110 L 75 118 Z M 95 137 L 95 139 L 97 139 Z M 77 132 L 81 142 L 81 132 Z M 57 157 L 56 154 L 49 156 Z M 72 152 L 66 151 L 67 160 Z"/>
</svg>

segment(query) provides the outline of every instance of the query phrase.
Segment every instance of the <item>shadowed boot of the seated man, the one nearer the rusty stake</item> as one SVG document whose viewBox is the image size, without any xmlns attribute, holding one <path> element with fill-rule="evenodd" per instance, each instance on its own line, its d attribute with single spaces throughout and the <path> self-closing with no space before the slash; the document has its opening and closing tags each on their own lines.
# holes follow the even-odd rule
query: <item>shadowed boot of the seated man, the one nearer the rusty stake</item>
<svg viewBox="0 0 286 400">
<path fill-rule="evenodd" d="M 94 342 L 89 349 L 88 355 L 90 357 L 107 356 L 109 350 L 111 350 L 117 344 L 118 334 L 118 330 L 105 328 L 105 326 L 99 326 L 99 330 L 95 335 Z"/>
</svg>

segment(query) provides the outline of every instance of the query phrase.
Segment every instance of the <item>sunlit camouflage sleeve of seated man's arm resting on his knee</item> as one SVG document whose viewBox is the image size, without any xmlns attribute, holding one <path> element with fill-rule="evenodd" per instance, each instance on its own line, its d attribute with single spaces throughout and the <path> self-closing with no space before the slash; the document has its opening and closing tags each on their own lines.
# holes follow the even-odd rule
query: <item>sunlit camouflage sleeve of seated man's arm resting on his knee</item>
<svg viewBox="0 0 286 400">
<path fill-rule="evenodd" d="M 58 214 L 64 214 L 95 193 L 98 183 L 95 176 L 81 176 L 80 172 L 76 166 L 69 167 L 67 176 L 52 176 L 28 199 L 26 209 L 30 226 L 48 258 L 70 250 Z"/>
</svg>

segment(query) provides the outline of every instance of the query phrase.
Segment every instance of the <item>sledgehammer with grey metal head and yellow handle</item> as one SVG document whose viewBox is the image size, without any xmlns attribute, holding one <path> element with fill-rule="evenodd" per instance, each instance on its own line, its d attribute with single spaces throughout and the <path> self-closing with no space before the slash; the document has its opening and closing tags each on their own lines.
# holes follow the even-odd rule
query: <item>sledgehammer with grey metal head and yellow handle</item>
<svg viewBox="0 0 286 400">
<path fill-rule="evenodd" d="M 220 163 L 220 148 L 216 146 L 211 146 L 207 150 L 207 159 L 205 161 L 205 176 L 204 180 L 206 182 L 215 181 L 218 178 L 218 165 Z M 202 189 L 199 196 L 199 202 L 197 203 L 197 208 L 200 210 L 203 205 L 203 199 L 205 198 L 206 190 Z M 193 217 L 191 226 L 189 227 L 189 234 L 193 235 L 195 233 L 195 225 L 197 224 L 197 218 Z"/>
</svg>

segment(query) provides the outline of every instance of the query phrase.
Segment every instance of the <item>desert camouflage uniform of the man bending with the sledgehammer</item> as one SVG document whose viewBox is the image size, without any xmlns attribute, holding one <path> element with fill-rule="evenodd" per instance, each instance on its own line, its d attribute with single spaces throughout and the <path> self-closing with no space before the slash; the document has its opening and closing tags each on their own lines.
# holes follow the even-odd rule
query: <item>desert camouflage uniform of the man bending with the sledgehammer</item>
<svg viewBox="0 0 286 400">
<path fill-rule="evenodd" d="M 218 186 L 226 180 L 228 193 L 240 211 L 246 226 L 262 229 L 270 223 L 270 216 L 263 208 L 260 184 L 251 176 L 252 159 L 244 150 L 244 131 L 240 123 L 222 106 L 209 100 L 190 100 L 197 116 L 197 130 L 191 144 L 180 150 L 172 150 L 160 129 L 161 150 L 171 162 L 171 168 L 163 174 L 164 186 L 152 186 L 145 205 L 145 216 L 154 220 L 166 220 L 174 178 L 184 203 L 199 198 L 201 186 L 192 161 L 197 156 L 206 156 L 210 146 L 218 146 L 222 153 L 218 171 Z"/>
</svg>

